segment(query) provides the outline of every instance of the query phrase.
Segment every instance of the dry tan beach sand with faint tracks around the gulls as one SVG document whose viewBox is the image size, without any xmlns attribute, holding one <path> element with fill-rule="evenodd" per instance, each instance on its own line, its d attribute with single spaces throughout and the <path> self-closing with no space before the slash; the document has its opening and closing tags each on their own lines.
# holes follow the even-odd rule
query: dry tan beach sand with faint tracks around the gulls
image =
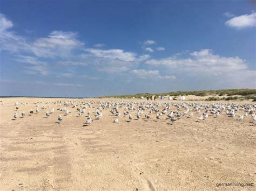
<svg viewBox="0 0 256 191">
<path fill-rule="evenodd" d="M 120 116 L 119 123 L 112 123 L 114 117 L 106 109 L 102 119 L 85 127 L 86 117 L 77 117 L 71 107 L 60 124 L 57 116 L 63 112 L 58 110 L 49 118 L 42 109 L 29 116 L 30 109 L 36 110 L 35 101 L 64 99 L 2 100 L 1 190 L 255 190 L 255 186 L 216 186 L 255 182 L 256 125 L 251 117 L 239 122 L 237 117 L 209 115 L 196 122 L 194 114 L 170 125 L 167 119 L 154 122 L 154 118 L 128 123 L 127 116 Z M 14 121 L 15 102 L 19 117 Z M 123 114 L 123 108 L 120 111 Z"/>
</svg>

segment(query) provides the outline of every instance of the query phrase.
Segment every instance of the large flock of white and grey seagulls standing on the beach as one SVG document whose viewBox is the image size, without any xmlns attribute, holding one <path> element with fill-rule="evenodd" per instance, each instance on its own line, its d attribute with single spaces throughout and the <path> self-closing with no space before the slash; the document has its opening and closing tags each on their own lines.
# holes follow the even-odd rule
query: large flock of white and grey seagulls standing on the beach
<svg viewBox="0 0 256 191">
<path fill-rule="evenodd" d="M 252 121 L 256 121 L 256 115 L 254 110 L 256 104 L 234 104 L 234 103 L 193 103 L 193 102 L 139 102 L 139 101 L 57 101 L 57 102 L 34 102 L 36 110 L 35 113 L 39 113 L 39 104 L 42 110 L 47 110 L 50 106 L 48 104 L 57 105 L 57 110 L 63 112 L 64 116 L 70 115 L 69 109 L 77 112 L 78 117 L 85 115 L 87 117 L 85 126 L 90 125 L 93 120 L 89 111 L 89 108 L 94 108 L 93 114 L 95 119 L 103 117 L 102 111 L 110 109 L 110 112 L 115 118 L 113 123 L 119 123 L 119 116 L 128 117 L 127 122 L 131 122 L 133 119 L 139 120 L 143 116 L 147 121 L 151 118 L 154 120 L 158 119 L 169 119 L 171 124 L 180 118 L 193 118 L 194 114 L 199 115 L 197 121 L 206 120 L 209 115 L 218 118 L 220 115 L 226 115 L 227 117 L 234 118 L 237 116 L 238 121 L 244 120 L 246 117 L 251 117 Z M 22 103 L 26 105 L 28 103 Z M 61 107 L 63 104 L 63 108 Z M 19 110 L 19 103 L 15 103 L 15 110 Z M 69 108 L 69 109 L 67 109 Z M 86 110 L 87 115 L 86 115 Z M 241 111 L 240 115 L 237 112 Z M 55 108 L 45 112 L 46 118 L 50 117 L 55 112 Z M 135 114 L 134 114 L 135 112 Z M 34 110 L 29 111 L 29 115 L 33 115 Z M 22 118 L 25 117 L 25 112 L 22 111 Z M 134 117 L 133 117 L 134 116 Z M 165 117 L 165 118 L 164 118 Z M 17 112 L 14 114 L 14 119 L 18 118 Z M 58 116 L 58 123 L 63 121 L 62 115 Z"/>
</svg>

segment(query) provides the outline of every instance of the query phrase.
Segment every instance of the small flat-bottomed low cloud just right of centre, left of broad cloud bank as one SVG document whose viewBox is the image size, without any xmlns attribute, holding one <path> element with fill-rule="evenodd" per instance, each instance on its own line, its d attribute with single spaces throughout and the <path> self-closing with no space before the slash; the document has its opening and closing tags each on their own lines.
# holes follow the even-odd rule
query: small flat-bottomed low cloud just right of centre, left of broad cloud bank
<svg viewBox="0 0 256 191">
<path fill-rule="evenodd" d="M 142 79 L 176 79 L 176 76 L 165 75 L 161 76 L 159 70 L 145 70 L 145 69 L 134 69 L 131 74 L 136 75 Z"/>
</svg>

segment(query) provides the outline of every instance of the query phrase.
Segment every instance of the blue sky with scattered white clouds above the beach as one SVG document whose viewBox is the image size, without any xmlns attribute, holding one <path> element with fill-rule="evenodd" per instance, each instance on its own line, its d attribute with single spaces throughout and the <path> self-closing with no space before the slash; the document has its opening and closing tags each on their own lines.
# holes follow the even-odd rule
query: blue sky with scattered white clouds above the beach
<svg viewBox="0 0 256 191">
<path fill-rule="evenodd" d="M 256 88 L 253 1 L 0 0 L 0 95 Z"/>
</svg>

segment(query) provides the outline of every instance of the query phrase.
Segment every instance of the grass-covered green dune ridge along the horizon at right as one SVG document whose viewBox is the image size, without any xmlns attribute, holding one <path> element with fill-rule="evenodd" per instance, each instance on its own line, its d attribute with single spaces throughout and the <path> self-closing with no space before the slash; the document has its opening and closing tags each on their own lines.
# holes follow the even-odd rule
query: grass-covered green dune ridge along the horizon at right
<svg viewBox="0 0 256 191">
<path fill-rule="evenodd" d="M 250 100 L 255 99 L 256 97 L 256 89 L 221 89 L 221 90 L 201 90 L 201 91 L 174 91 L 169 93 L 160 93 L 160 94 L 149 94 L 149 93 L 140 93 L 136 95 L 114 95 L 114 96 L 106 96 L 106 97 L 115 97 L 115 98 L 140 98 L 140 97 L 146 97 L 146 96 L 152 96 L 156 95 L 158 96 L 180 96 L 180 95 L 195 95 L 195 96 L 228 96 L 224 99 L 219 97 L 209 97 L 208 101 L 218 101 L 219 100 Z M 240 97 L 233 95 L 241 95 Z"/>
</svg>

